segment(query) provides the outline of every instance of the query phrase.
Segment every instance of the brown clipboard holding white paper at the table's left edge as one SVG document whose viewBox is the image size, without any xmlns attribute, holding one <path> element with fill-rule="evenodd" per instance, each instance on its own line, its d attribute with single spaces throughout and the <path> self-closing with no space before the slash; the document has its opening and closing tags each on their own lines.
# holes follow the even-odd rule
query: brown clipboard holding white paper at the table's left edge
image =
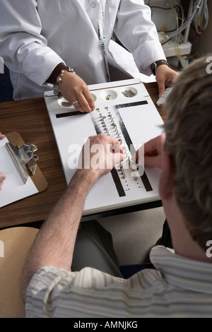
<svg viewBox="0 0 212 332">
<path fill-rule="evenodd" d="M 6 138 L 4 139 L 8 140 L 6 144 L 9 143 L 14 151 L 19 150 L 22 146 L 31 146 L 31 144 L 25 144 L 23 138 L 16 131 L 9 132 L 5 136 Z M 20 169 L 18 169 L 16 156 L 13 155 L 6 144 L 5 146 L 1 146 L 1 148 L 5 149 L 6 160 L 9 161 L 12 171 L 7 173 L 7 164 L 4 165 L 4 170 L 1 169 L 1 172 L 6 174 L 6 180 L 4 181 L 0 191 L 0 208 L 8 205 L 9 203 L 13 203 L 14 201 L 18 201 L 22 198 L 45 191 L 48 186 L 47 180 L 35 161 L 36 159 L 34 160 L 36 162 L 34 172 L 30 172 L 29 168 L 25 167 L 25 170 L 28 172 L 28 177 L 24 180 L 22 174 L 20 174 Z M 14 179 L 14 177 L 16 177 L 15 179 L 17 179 L 17 183 L 13 186 L 13 184 L 11 184 L 11 179 Z"/>
</svg>

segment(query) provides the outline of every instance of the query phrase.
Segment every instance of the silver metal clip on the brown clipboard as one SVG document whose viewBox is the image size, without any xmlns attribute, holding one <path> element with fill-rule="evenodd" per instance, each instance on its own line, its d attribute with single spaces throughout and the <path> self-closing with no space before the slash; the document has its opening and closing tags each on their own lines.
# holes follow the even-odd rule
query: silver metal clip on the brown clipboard
<svg viewBox="0 0 212 332">
<path fill-rule="evenodd" d="M 7 142 L 6 147 L 8 148 L 9 153 L 11 153 L 20 176 L 24 183 L 26 183 L 29 176 L 28 169 L 31 174 L 35 174 L 37 166 L 36 162 L 39 159 L 37 155 L 34 155 L 34 152 L 37 151 L 37 146 L 35 146 L 35 144 L 23 144 L 23 146 L 16 147 L 13 146 L 12 143 Z"/>
</svg>

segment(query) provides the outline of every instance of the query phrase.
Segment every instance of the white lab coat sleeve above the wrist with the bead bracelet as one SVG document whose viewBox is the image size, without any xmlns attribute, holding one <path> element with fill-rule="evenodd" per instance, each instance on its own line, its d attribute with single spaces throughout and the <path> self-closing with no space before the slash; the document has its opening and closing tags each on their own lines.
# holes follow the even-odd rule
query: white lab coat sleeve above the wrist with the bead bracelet
<svg viewBox="0 0 212 332">
<path fill-rule="evenodd" d="M 8 69 L 23 73 L 37 85 L 45 83 L 64 61 L 41 34 L 37 1 L 1 0 L 0 22 L 0 56 Z"/>
</svg>

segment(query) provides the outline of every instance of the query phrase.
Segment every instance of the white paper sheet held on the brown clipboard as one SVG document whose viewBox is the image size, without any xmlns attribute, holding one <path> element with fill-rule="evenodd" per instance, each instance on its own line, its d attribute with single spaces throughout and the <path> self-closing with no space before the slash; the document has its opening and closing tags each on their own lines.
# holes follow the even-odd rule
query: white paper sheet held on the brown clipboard
<svg viewBox="0 0 212 332">
<path fill-rule="evenodd" d="M 0 172 L 6 175 L 6 179 L 4 180 L 4 184 L 0 191 L 0 208 L 13 203 L 14 201 L 38 193 L 38 190 L 30 177 L 28 177 L 26 184 L 23 182 L 23 179 L 20 177 L 16 165 L 5 146 L 6 142 L 8 142 L 7 138 L 0 140 Z"/>
</svg>

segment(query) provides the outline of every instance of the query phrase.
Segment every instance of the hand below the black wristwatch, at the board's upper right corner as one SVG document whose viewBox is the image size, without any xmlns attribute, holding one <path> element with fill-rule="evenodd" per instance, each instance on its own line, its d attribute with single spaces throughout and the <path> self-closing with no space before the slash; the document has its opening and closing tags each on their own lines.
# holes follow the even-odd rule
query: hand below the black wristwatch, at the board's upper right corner
<svg viewBox="0 0 212 332">
<path fill-rule="evenodd" d="M 158 82 L 158 91 L 160 97 L 164 91 L 166 86 L 170 86 L 174 84 L 175 78 L 177 77 L 177 71 L 173 71 L 165 64 L 161 64 L 155 70 L 155 78 Z"/>
</svg>

